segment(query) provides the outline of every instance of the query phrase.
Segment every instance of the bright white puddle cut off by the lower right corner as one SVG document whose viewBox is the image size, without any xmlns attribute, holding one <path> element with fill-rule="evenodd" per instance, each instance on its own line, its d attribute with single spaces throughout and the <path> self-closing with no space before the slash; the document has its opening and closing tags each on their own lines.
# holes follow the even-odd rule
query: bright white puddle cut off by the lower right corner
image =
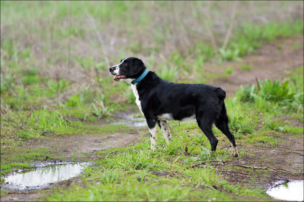
<svg viewBox="0 0 304 202">
<path fill-rule="evenodd" d="M 274 187 L 266 191 L 268 196 L 278 200 L 303 201 L 304 200 L 304 181 L 291 180 L 289 182 L 280 180 Z"/>
</svg>

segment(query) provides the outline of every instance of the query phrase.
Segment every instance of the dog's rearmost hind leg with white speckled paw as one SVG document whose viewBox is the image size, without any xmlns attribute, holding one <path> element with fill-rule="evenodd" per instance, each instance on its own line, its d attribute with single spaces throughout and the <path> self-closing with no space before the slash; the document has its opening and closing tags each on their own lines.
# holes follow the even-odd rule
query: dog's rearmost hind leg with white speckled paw
<svg viewBox="0 0 304 202">
<path fill-rule="evenodd" d="M 223 108 L 222 108 L 221 114 L 219 116 L 219 119 L 217 119 L 215 121 L 215 126 L 220 131 L 222 131 L 223 134 L 225 134 L 226 137 L 228 138 L 228 140 L 230 141 L 231 148 L 232 148 L 232 156 L 238 157 L 239 153 L 237 151 L 237 146 L 235 144 L 234 135 L 229 130 L 228 122 L 229 122 L 229 119 L 227 116 L 226 107 L 225 107 L 225 104 L 223 104 Z"/>
</svg>

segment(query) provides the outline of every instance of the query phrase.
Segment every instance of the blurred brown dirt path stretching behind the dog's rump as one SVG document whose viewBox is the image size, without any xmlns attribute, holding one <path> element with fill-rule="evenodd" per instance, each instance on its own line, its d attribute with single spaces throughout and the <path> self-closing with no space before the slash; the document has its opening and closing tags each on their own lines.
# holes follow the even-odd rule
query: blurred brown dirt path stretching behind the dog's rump
<svg viewBox="0 0 304 202">
<path fill-rule="evenodd" d="M 227 78 L 220 78 L 209 82 L 210 85 L 223 88 L 228 96 L 234 95 L 235 89 L 243 84 L 256 84 L 256 78 L 280 79 L 291 73 L 293 68 L 304 65 L 304 39 L 297 36 L 288 39 L 279 39 L 263 45 L 255 55 L 247 55 L 241 61 L 224 61 L 222 67 L 218 63 L 206 63 L 206 72 L 218 73 L 220 69 L 234 68 L 234 72 Z M 298 47 L 295 49 L 295 44 Z M 250 71 L 242 70 L 242 65 L 251 66 Z"/>
</svg>

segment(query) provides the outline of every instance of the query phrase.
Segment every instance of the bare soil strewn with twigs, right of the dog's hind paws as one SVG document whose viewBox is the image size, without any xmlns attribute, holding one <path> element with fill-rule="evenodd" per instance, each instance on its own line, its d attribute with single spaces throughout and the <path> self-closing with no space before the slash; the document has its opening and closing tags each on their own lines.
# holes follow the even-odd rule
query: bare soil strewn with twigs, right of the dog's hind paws
<svg viewBox="0 0 304 202">
<path fill-rule="evenodd" d="M 278 137 L 275 134 L 273 136 Z M 222 172 L 223 177 L 231 184 L 240 183 L 264 190 L 273 186 L 277 180 L 303 180 L 303 134 L 300 137 L 286 134 L 278 138 L 283 141 L 276 146 L 270 146 L 264 141 L 254 145 L 237 145 L 239 152 L 247 151 L 248 153 L 239 157 L 236 162 L 226 163 L 225 167 L 241 164 L 264 169 L 235 166 L 230 169 L 230 172 Z M 226 140 L 219 144 L 219 148 L 224 146 L 224 142 Z M 267 171 L 267 174 L 264 171 Z"/>
</svg>

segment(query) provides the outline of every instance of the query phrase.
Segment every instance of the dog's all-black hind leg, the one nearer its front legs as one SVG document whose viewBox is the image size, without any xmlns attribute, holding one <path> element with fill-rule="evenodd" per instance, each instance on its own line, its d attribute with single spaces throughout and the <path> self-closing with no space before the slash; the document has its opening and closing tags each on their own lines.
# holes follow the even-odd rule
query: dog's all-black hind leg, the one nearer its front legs
<svg viewBox="0 0 304 202">
<path fill-rule="evenodd" d="M 210 120 L 207 115 L 203 115 L 203 113 L 196 114 L 196 121 L 203 133 L 208 137 L 208 140 L 211 144 L 211 151 L 215 151 L 217 143 L 219 141 L 216 139 L 212 132 L 213 121 Z"/>
</svg>

